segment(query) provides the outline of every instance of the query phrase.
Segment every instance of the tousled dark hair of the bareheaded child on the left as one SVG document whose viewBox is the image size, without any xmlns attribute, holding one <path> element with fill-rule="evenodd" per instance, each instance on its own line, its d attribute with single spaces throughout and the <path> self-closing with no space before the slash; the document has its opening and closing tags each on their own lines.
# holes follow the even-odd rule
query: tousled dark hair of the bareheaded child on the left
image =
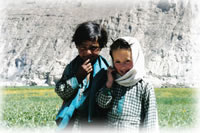
<svg viewBox="0 0 200 133">
<path fill-rule="evenodd" d="M 108 34 L 106 30 L 96 22 L 88 21 L 79 24 L 72 37 L 72 42 L 80 46 L 84 41 L 97 41 L 100 48 L 106 47 Z"/>
</svg>

